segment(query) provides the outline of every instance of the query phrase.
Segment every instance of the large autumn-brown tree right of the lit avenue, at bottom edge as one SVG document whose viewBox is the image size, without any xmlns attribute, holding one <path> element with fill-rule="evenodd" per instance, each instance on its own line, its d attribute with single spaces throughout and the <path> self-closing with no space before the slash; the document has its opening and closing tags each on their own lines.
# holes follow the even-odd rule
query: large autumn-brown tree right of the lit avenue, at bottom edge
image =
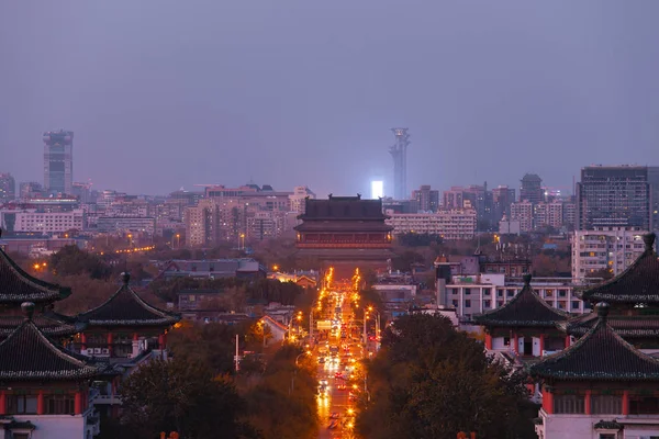
<svg viewBox="0 0 659 439">
<path fill-rule="evenodd" d="M 533 437 L 530 423 L 518 417 L 524 378 L 489 361 L 482 345 L 445 317 L 396 319 L 366 367 L 370 397 L 361 399 L 356 424 L 362 437 Z"/>
</svg>

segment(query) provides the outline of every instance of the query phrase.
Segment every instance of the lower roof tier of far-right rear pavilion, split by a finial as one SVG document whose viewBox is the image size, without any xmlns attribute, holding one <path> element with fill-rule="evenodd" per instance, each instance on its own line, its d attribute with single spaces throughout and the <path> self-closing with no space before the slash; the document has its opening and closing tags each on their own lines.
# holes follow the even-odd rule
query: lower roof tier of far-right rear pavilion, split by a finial
<svg viewBox="0 0 659 439">
<path fill-rule="evenodd" d="M 608 316 L 608 325 L 621 337 L 659 338 L 658 316 Z M 583 314 L 579 317 L 561 323 L 560 327 L 569 335 L 583 336 L 597 323 L 596 313 Z"/>
</svg>

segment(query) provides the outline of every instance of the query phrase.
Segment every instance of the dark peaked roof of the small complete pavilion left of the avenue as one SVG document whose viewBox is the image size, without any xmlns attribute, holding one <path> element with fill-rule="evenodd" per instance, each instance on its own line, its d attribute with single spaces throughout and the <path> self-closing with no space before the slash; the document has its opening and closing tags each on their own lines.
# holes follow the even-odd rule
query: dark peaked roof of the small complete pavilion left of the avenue
<svg viewBox="0 0 659 439">
<path fill-rule="evenodd" d="M 123 285 L 102 305 L 78 317 L 89 326 L 169 326 L 180 317 L 149 305 L 129 286 L 131 275 L 122 274 Z"/>
</svg>

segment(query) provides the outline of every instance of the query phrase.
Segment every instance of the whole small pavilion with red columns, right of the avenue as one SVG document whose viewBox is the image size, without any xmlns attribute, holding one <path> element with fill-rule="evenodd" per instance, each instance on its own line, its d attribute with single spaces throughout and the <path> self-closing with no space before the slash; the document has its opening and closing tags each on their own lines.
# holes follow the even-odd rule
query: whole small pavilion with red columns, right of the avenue
<svg viewBox="0 0 659 439">
<path fill-rule="evenodd" d="M 530 286 L 530 278 L 524 275 L 524 288 L 510 302 L 473 317 L 485 329 L 488 351 L 543 357 L 569 346 L 569 337 L 556 326 L 567 320 L 568 314 L 538 296 Z"/>
</svg>

